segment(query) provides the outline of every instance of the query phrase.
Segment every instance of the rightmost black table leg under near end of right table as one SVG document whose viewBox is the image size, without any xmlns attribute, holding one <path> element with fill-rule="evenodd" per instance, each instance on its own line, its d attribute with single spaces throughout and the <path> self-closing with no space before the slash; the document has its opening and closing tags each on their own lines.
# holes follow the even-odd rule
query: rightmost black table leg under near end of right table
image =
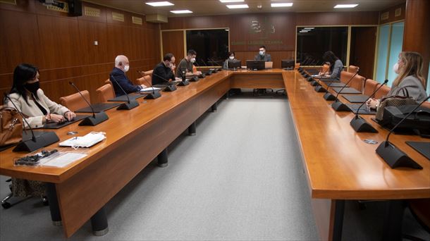
<svg viewBox="0 0 430 241">
<path fill-rule="evenodd" d="M 390 200 L 383 221 L 382 240 L 402 240 L 402 223 L 405 212 L 404 200 Z"/>
</svg>

